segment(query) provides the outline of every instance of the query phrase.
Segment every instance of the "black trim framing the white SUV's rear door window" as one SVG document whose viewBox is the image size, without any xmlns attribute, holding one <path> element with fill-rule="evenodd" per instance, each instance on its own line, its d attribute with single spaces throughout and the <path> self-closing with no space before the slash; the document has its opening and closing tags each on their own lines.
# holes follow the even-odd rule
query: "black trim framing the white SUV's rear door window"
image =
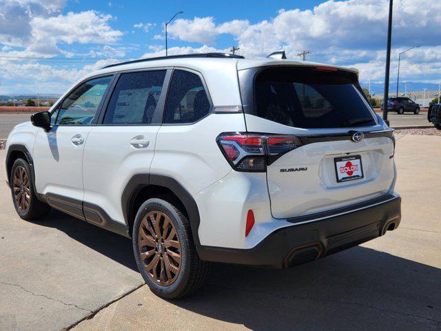
<svg viewBox="0 0 441 331">
<path fill-rule="evenodd" d="M 107 112 L 107 107 L 109 106 L 110 99 L 112 98 L 112 94 L 116 88 L 116 84 L 119 81 L 119 77 L 121 74 L 131 74 L 132 72 L 147 72 L 147 71 L 161 71 L 165 70 L 165 77 L 163 81 L 163 88 L 161 90 L 161 95 L 158 99 L 158 104 L 156 105 L 156 110 L 154 117 L 158 117 L 158 121 L 155 123 L 124 123 L 124 124 L 112 124 L 112 123 L 104 123 L 105 113 Z M 165 110 L 165 100 L 167 98 L 168 86 L 170 84 L 170 80 L 172 77 L 172 68 L 170 67 L 152 67 L 152 68 L 139 68 L 133 70 L 121 70 L 116 72 L 114 82 L 112 83 L 110 92 L 105 97 L 105 103 L 103 104 L 103 108 L 99 114 L 98 120 L 96 122 L 96 126 L 161 126 L 163 114 Z"/>
</svg>

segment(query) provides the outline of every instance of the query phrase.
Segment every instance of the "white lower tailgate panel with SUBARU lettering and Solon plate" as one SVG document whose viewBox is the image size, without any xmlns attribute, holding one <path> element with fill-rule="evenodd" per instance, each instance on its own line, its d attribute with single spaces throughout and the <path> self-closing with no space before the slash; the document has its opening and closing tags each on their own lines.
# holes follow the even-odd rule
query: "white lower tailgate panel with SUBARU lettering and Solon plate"
<svg viewBox="0 0 441 331">
<path fill-rule="evenodd" d="M 292 150 L 267 166 L 271 212 L 276 218 L 296 217 L 379 197 L 393 182 L 392 155 L 387 137 L 323 141 Z"/>
</svg>

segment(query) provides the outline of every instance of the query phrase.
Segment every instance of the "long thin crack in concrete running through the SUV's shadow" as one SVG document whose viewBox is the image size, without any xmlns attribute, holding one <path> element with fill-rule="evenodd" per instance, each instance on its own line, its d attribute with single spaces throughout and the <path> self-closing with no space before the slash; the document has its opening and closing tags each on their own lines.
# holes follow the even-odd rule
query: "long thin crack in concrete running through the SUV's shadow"
<svg viewBox="0 0 441 331">
<path fill-rule="evenodd" d="M 340 303 L 343 305 L 358 305 L 359 307 L 371 308 L 373 310 L 378 310 L 379 312 L 387 312 L 387 313 L 399 314 L 399 315 L 403 315 L 403 316 L 407 316 L 407 317 L 415 317 L 418 319 L 425 319 L 427 321 L 437 322 L 438 324 L 441 324 L 441 321 L 438 319 L 430 319 L 429 317 L 424 317 L 424 316 L 420 316 L 420 315 L 416 315 L 416 314 L 410 314 L 408 312 L 398 312 L 397 310 L 382 309 L 382 308 L 378 308 L 373 305 L 365 305 L 363 303 L 354 302 L 354 301 L 336 301 L 336 300 L 329 300 L 329 299 L 318 299 L 318 298 L 316 299 L 316 298 L 311 298 L 311 297 L 294 297 L 294 296 L 289 296 L 289 295 L 279 295 L 279 294 L 273 294 L 273 293 L 267 293 L 267 292 L 256 292 L 256 291 L 249 291 L 249 290 L 232 289 L 232 288 L 227 288 L 226 286 L 216 285 L 216 284 L 208 284 L 208 285 L 212 285 L 214 287 L 218 287 L 218 288 L 222 288 L 224 290 L 230 290 L 230 291 L 253 293 L 253 294 L 257 294 L 257 295 L 263 294 L 263 295 L 266 295 L 267 297 L 276 297 L 278 299 L 309 300 L 309 301 L 315 301 L 315 302 L 321 301 L 321 302 L 325 302 L 325 303 Z"/>
</svg>

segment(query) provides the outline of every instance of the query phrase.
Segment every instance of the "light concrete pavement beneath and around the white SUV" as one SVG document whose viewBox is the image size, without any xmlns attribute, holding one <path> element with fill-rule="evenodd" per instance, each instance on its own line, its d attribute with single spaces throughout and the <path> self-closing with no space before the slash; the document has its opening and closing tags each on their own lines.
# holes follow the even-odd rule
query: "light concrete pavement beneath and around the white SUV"
<svg viewBox="0 0 441 331">
<path fill-rule="evenodd" d="M 289 270 L 217 264 L 181 301 L 143 285 L 128 239 L 56 211 L 19 219 L 2 166 L 0 330 L 439 331 L 441 137 L 398 137 L 396 163 L 398 230 Z"/>
</svg>

